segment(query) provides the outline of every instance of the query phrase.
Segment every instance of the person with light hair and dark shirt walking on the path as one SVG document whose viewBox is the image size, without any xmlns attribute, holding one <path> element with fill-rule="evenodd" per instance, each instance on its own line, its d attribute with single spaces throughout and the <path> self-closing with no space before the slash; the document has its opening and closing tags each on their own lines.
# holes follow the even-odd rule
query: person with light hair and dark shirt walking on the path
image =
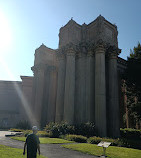
<svg viewBox="0 0 141 158">
<path fill-rule="evenodd" d="M 37 149 L 40 155 L 40 141 L 38 136 L 36 135 L 38 129 L 37 126 L 32 127 L 32 134 L 29 134 L 26 138 L 26 142 L 24 144 L 23 155 L 25 155 L 25 149 L 27 146 L 27 158 L 36 158 L 37 157 Z"/>
</svg>

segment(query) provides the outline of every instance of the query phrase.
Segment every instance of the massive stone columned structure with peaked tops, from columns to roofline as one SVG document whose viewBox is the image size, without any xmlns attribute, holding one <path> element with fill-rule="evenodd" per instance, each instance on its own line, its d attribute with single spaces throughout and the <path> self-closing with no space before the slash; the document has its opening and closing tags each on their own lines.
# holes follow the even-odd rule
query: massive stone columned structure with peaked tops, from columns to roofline
<svg viewBox="0 0 141 158">
<path fill-rule="evenodd" d="M 120 73 L 117 26 L 101 15 L 90 24 L 71 19 L 60 28 L 59 48 L 41 45 L 32 67 L 38 123 L 94 122 L 100 136 L 118 137 Z"/>
</svg>

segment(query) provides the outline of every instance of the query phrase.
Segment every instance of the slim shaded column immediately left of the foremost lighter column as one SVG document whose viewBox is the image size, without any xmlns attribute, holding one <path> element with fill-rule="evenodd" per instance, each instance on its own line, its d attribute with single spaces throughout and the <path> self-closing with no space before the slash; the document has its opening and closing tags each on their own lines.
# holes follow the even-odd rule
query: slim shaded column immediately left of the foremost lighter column
<svg viewBox="0 0 141 158">
<path fill-rule="evenodd" d="M 94 50 L 88 50 L 86 58 L 86 121 L 95 120 L 95 59 Z"/>
</svg>

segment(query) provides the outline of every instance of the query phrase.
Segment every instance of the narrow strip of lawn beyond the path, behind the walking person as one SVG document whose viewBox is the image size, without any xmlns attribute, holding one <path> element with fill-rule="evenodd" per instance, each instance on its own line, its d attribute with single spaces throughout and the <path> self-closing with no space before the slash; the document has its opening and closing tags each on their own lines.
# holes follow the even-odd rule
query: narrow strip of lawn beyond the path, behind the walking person
<svg viewBox="0 0 141 158">
<path fill-rule="evenodd" d="M 26 137 L 11 137 L 12 139 L 25 141 Z M 62 143 L 73 143 L 72 141 L 59 139 L 59 138 L 39 138 L 41 144 L 62 144 Z"/>
</svg>

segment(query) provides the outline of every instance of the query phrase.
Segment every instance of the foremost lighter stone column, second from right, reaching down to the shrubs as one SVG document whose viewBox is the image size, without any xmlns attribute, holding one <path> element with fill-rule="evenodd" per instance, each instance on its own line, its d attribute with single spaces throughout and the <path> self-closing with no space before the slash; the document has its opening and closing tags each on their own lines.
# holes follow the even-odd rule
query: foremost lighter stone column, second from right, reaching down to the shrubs
<svg viewBox="0 0 141 158">
<path fill-rule="evenodd" d="M 95 50 L 95 125 L 99 136 L 107 136 L 105 48 L 99 41 Z"/>
</svg>

